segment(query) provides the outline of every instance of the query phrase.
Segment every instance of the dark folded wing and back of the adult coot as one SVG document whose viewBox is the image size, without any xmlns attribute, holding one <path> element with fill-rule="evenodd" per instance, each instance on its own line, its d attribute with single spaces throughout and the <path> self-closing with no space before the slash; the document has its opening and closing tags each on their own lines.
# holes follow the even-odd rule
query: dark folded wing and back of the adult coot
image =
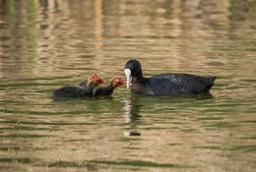
<svg viewBox="0 0 256 172">
<path fill-rule="evenodd" d="M 198 94 L 208 91 L 215 80 L 216 78 L 168 73 L 149 78 L 149 86 L 155 95 Z"/>
</svg>

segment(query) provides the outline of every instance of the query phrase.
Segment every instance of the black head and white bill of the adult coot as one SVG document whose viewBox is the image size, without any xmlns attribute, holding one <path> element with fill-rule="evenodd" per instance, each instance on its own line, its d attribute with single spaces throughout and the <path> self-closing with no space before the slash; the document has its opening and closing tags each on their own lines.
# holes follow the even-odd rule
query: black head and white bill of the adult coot
<svg viewBox="0 0 256 172">
<path fill-rule="evenodd" d="M 142 66 L 138 60 L 129 60 L 124 67 L 124 74 L 127 78 L 127 88 L 130 87 L 133 77 L 142 77 Z"/>
</svg>

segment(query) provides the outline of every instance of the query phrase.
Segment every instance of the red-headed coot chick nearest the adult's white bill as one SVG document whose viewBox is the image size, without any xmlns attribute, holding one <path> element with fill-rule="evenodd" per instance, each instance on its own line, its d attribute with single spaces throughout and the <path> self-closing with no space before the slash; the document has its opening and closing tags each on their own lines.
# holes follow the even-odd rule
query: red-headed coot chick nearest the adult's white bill
<svg viewBox="0 0 256 172">
<path fill-rule="evenodd" d="M 116 87 L 123 86 L 124 84 L 122 79 L 114 78 L 108 85 L 96 87 L 94 95 L 111 95 Z"/>
</svg>

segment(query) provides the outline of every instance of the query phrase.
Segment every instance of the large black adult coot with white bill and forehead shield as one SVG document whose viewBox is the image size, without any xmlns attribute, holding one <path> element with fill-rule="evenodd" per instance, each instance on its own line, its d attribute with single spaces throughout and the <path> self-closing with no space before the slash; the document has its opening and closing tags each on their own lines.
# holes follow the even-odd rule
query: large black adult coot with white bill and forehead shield
<svg viewBox="0 0 256 172">
<path fill-rule="evenodd" d="M 173 73 L 144 78 L 141 63 L 138 60 L 128 61 L 125 64 L 124 73 L 127 77 L 127 88 L 131 86 L 133 93 L 146 95 L 199 94 L 209 91 L 217 79 Z"/>
</svg>

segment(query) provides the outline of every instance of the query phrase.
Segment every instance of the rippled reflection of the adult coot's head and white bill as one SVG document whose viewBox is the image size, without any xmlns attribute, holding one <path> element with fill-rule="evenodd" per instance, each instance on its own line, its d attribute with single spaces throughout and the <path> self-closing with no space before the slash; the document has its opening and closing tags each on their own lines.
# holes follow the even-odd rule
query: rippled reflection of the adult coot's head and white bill
<svg viewBox="0 0 256 172">
<path fill-rule="evenodd" d="M 123 102 L 124 102 L 124 118 L 125 118 L 125 123 L 127 123 L 126 128 L 129 131 L 124 132 L 125 137 L 138 137 L 141 136 L 140 132 L 137 132 L 137 126 L 140 124 L 140 118 L 141 115 L 139 115 L 139 110 L 141 105 L 136 103 L 135 101 L 136 97 L 127 97 Z"/>
</svg>

